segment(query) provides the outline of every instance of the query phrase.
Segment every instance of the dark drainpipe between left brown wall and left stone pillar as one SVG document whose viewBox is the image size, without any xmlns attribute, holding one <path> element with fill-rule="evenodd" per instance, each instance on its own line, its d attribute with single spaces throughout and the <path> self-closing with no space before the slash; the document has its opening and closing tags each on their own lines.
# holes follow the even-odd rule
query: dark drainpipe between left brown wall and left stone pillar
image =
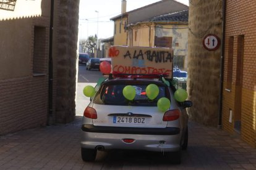
<svg viewBox="0 0 256 170">
<path fill-rule="evenodd" d="M 51 18 L 49 26 L 49 86 L 48 86 L 48 120 L 47 124 L 53 121 L 53 14 L 54 14 L 54 0 L 51 0 Z"/>
</svg>

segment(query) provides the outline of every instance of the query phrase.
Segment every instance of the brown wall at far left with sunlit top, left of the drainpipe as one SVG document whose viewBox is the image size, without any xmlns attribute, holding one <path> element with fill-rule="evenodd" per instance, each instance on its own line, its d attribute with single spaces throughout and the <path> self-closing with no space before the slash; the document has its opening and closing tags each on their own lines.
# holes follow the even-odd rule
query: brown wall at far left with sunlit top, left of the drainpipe
<svg viewBox="0 0 256 170">
<path fill-rule="evenodd" d="M 0 9 L 0 135 L 46 124 L 49 2 L 20 0 L 15 11 Z M 40 55 L 35 54 L 35 26 L 46 33 L 40 34 L 45 36 Z M 43 66 L 40 76 L 33 74 L 34 54 Z"/>
</svg>

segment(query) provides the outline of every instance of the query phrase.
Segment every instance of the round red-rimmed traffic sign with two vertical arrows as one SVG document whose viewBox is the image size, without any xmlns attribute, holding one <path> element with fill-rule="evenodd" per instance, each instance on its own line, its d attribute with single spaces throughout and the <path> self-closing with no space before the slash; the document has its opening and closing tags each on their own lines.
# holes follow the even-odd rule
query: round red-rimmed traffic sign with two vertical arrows
<svg viewBox="0 0 256 170">
<path fill-rule="evenodd" d="M 220 38 L 215 34 L 207 34 L 203 38 L 203 47 L 208 51 L 215 51 L 220 46 Z"/>
</svg>

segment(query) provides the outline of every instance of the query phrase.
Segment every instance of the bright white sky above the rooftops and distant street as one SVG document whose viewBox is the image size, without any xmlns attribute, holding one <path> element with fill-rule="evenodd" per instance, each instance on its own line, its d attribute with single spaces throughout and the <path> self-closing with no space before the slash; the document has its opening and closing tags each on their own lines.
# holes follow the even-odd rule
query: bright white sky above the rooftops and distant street
<svg viewBox="0 0 256 170">
<path fill-rule="evenodd" d="M 126 11 L 138 9 L 160 0 L 127 0 Z M 176 0 L 189 6 L 189 0 Z M 113 36 L 114 22 L 109 20 L 121 14 L 121 0 L 80 0 L 79 39 L 98 33 L 99 39 Z M 97 11 L 97 12 L 96 12 Z"/>
</svg>

